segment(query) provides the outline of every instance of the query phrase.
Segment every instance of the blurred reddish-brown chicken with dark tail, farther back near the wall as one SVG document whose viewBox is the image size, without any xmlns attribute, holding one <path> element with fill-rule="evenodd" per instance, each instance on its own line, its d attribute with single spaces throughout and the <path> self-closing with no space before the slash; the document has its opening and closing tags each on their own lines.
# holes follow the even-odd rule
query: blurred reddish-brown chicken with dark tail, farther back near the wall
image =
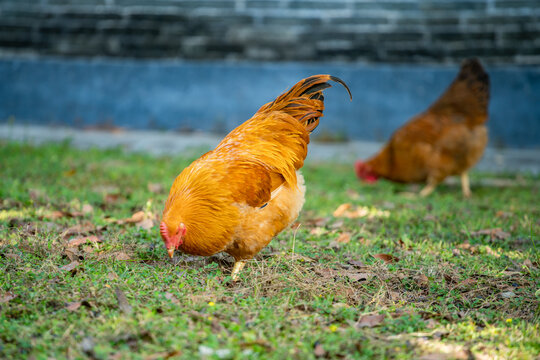
<svg viewBox="0 0 540 360">
<path fill-rule="evenodd" d="M 489 76 L 476 59 L 465 60 L 442 96 L 390 138 L 382 150 L 357 161 L 357 176 L 425 182 L 427 196 L 450 175 L 461 175 L 463 195 L 471 195 L 468 170 L 482 157 L 487 144 Z"/>
</svg>

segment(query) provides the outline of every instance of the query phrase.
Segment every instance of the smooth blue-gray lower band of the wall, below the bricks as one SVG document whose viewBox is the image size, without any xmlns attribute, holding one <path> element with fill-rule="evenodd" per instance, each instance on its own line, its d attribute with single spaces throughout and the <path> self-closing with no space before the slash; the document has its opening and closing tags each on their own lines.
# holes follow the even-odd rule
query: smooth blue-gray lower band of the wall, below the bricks
<svg viewBox="0 0 540 360">
<path fill-rule="evenodd" d="M 488 66 L 491 145 L 540 146 L 540 68 Z M 18 123 L 228 131 L 312 74 L 350 86 L 326 92 L 318 132 L 385 140 L 448 86 L 457 66 L 0 60 L 0 119 Z"/>
</svg>

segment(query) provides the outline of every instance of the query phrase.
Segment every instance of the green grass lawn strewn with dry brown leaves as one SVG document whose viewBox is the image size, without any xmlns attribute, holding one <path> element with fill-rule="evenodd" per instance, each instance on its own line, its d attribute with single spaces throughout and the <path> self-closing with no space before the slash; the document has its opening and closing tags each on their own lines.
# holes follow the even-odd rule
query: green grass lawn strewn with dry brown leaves
<svg viewBox="0 0 540 360">
<path fill-rule="evenodd" d="M 422 199 L 308 164 L 298 223 L 232 283 L 229 257 L 171 261 L 159 237 L 191 160 L 0 143 L 0 358 L 540 353 L 538 177 Z"/>
</svg>

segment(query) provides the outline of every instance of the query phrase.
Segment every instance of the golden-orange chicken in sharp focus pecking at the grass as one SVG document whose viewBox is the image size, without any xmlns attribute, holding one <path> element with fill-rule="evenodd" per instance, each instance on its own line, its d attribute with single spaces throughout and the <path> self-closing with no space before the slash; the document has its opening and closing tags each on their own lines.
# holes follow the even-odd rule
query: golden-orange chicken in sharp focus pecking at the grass
<svg viewBox="0 0 540 360">
<path fill-rule="evenodd" d="M 176 249 L 209 256 L 226 252 L 238 272 L 290 225 L 304 204 L 299 169 L 309 134 L 323 116 L 330 75 L 306 78 L 231 131 L 174 181 L 160 233 L 172 258 Z"/>
</svg>

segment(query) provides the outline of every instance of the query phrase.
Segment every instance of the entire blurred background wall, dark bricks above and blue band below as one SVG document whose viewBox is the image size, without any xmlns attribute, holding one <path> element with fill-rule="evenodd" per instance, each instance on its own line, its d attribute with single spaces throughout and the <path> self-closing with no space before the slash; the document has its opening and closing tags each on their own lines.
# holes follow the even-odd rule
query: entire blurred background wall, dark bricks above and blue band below
<svg viewBox="0 0 540 360">
<path fill-rule="evenodd" d="M 492 145 L 539 146 L 538 0 L 0 0 L 0 119 L 223 132 L 332 73 L 321 132 L 385 140 L 472 56 Z"/>
</svg>

